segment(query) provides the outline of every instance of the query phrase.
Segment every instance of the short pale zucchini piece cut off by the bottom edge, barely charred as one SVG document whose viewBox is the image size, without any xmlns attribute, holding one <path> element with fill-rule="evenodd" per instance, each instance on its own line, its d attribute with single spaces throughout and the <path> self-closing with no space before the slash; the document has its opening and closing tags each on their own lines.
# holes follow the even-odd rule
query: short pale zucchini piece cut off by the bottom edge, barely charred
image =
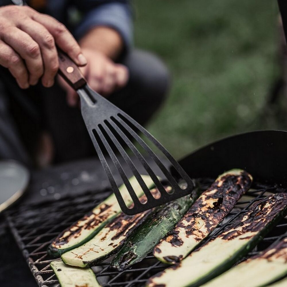
<svg viewBox="0 0 287 287">
<path fill-rule="evenodd" d="M 92 269 L 83 269 L 65 265 L 61 260 L 53 261 L 54 270 L 61 287 L 100 287 Z"/>
</svg>

